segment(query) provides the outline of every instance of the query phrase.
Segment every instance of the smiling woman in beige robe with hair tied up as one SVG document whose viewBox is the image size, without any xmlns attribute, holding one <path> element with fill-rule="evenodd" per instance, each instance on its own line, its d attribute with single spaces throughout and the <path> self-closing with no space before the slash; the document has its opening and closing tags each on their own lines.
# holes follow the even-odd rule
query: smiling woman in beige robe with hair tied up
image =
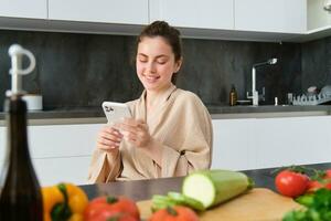
<svg viewBox="0 0 331 221">
<path fill-rule="evenodd" d="M 164 21 L 142 30 L 136 69 L 145 91 L 127 103 L 132 118 L 100 130 L 90 182 L 185 176 L 210 167 L 211 116 L 195 94 L 172 84 L 181 64 L 178 30 Z"/>
</svg>

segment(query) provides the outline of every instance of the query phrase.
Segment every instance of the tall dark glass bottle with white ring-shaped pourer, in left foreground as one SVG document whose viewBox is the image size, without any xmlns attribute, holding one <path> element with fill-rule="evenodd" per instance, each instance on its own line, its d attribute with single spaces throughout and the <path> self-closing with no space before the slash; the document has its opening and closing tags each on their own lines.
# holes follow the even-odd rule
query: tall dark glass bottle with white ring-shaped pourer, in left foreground
<svg viewBox="0 0 331 221">
<path fill-rule="evenodd" d="M 22 99 L 20 74 L 32 71 L 35 62 L 32 53 L 20 45 L 9 50 L 12 56 L 12 88 L 7 92 L 7 156 L 0 177 L 0 220 L 42 221 L 43 201 L 41 188 L 30 158 L 26 131 L 26 103 Z M 28 55 L 29 54 L 29 55 Z M 19 56 L 30 57 L 30 67 L 20 70 Z M 33 56 L 33 55 L 32 55 Z M 33 59 L 33 60 L 32 60 Z M 33 66 L 31 69 L 31 66 Z M 30 70 L 29 70 L 30 69 Z"/>
</svg>

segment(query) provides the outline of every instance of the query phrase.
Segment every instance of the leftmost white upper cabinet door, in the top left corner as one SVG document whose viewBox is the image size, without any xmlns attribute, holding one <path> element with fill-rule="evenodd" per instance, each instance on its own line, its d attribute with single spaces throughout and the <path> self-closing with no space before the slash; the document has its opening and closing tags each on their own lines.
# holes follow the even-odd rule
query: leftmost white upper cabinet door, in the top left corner
<svg viewBox="0 0 331 221">
<path fill-rule="evenodd" d="M 46 0 L 0 0 L 0 17 L 47 19 Z"/>
</svg>

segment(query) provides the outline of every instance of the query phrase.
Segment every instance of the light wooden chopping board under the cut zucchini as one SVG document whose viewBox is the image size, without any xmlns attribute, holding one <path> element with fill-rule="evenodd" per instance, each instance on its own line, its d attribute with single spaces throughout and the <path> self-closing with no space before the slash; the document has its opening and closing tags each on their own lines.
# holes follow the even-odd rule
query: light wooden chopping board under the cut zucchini
<svg viewBox="0 0 331 221">
<path fill-rule="evenodd" d="M 142 220 L 151 215 L 151 200 L 139 201 Z M 200 213 L 201 221 L 281 221 L 284 214 L 301 206 L 291 198 L 269 189 L 254 188 L 249 192 Z"/>
</svg>

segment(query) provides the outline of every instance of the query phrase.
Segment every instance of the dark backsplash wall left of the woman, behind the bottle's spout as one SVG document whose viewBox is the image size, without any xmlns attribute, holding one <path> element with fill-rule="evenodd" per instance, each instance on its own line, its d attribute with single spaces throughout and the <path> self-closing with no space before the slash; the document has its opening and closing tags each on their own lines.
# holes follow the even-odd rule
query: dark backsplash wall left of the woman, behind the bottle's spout
<svg viewBox="0 0 331 221">
<path fill-rule="evenodd" d="M 106 98 L 128 101 L 141 91 L 129 59 L 134 38 L 21 31 L 0 35 L 1 103 L 10 86 L 12 43 L 34 53 L 36 69 L 24 76 L 24 90 L 41 93 L 45 108 L 99 106 Z"/>
</svg>

